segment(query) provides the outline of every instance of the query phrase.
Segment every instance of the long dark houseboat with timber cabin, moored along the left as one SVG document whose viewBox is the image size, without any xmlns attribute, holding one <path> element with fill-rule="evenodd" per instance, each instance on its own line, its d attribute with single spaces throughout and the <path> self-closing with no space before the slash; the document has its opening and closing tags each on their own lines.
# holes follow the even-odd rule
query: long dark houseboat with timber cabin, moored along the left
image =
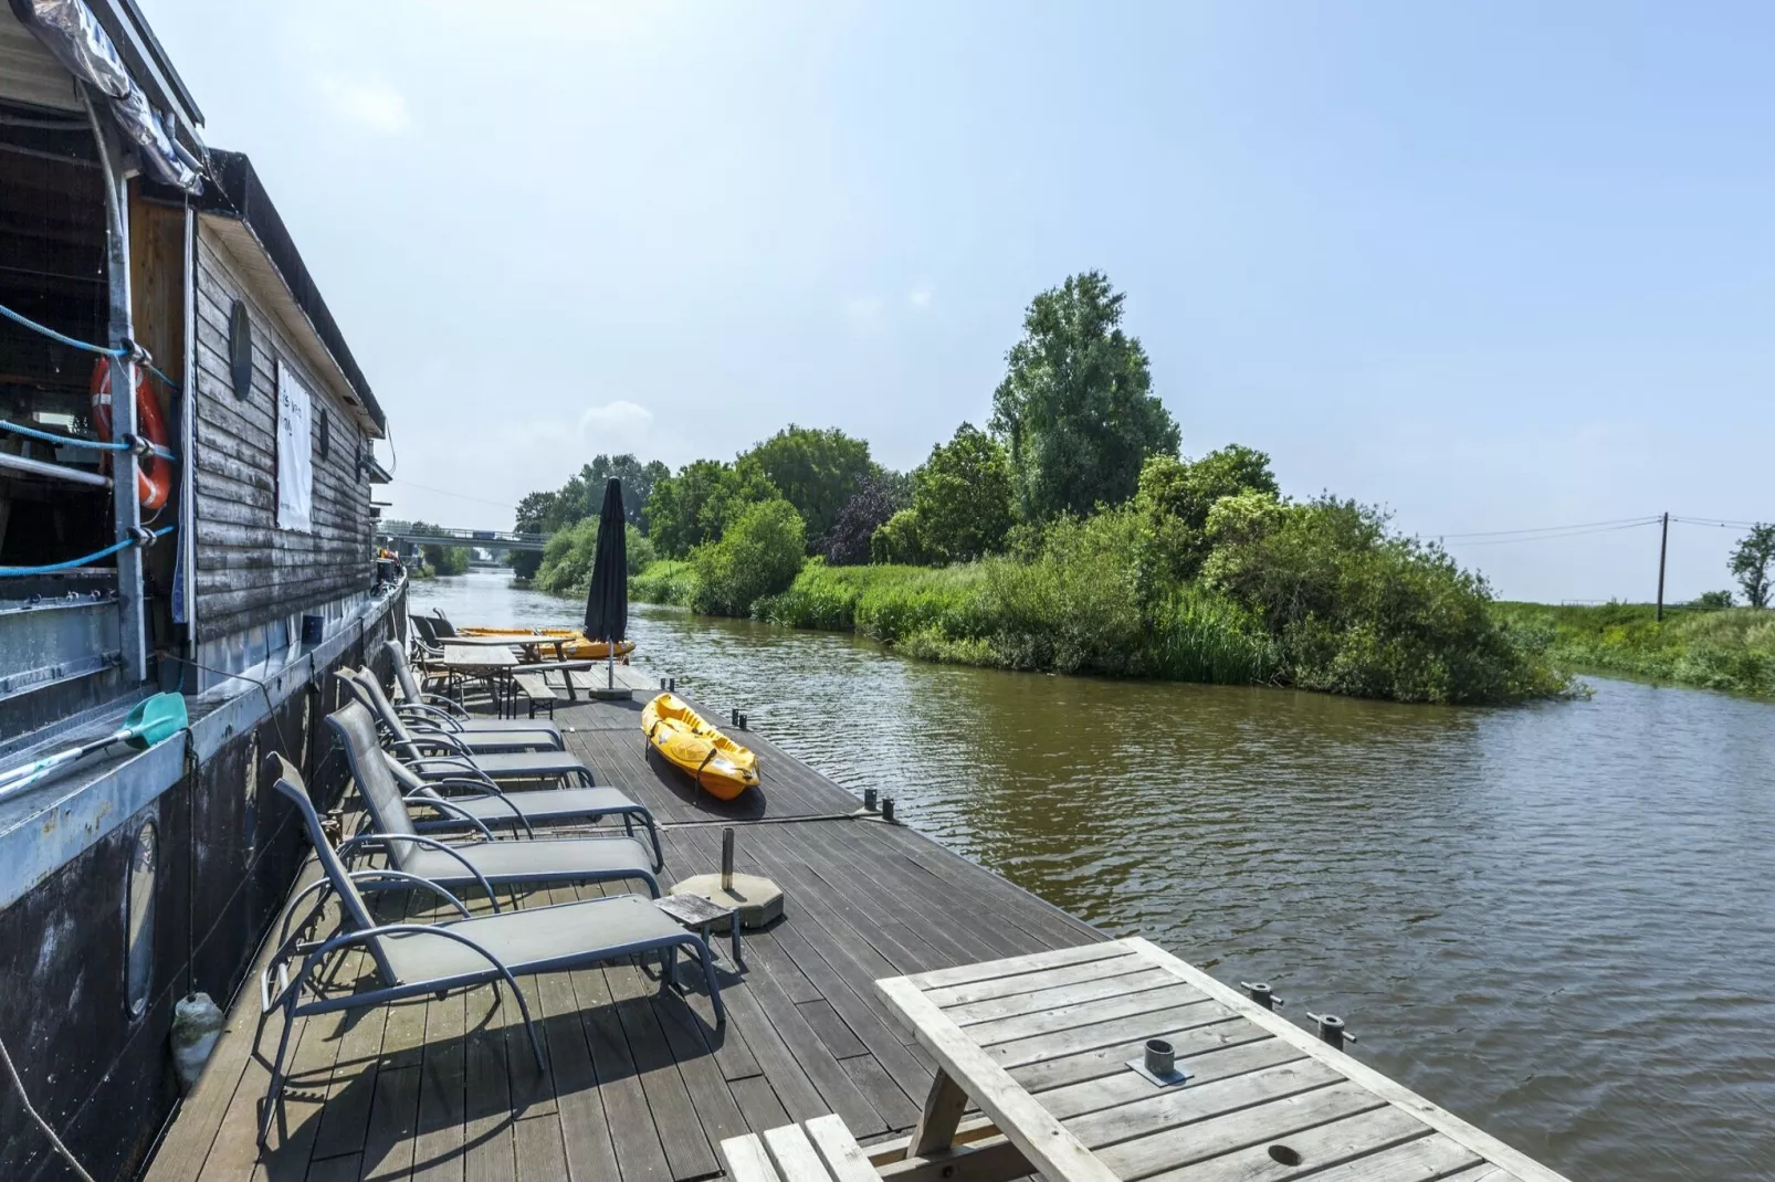
<svg viewBox="0 0 1775 1182">
<path fill-rule="evenodd" d="M 201 128 L 135 0 L 0 7 L 0 1044 L 98 1178 L 146 1161 L 176 1005 L 227 1005 L 307 852 L 263 756 L 343 786 L 330 673 L 405 612 L 383 412 Z M 163 692 L 172 738 L 9 784 Z M 0 1091 L 0 1178 L 73 1177 Z"/>
</svg>

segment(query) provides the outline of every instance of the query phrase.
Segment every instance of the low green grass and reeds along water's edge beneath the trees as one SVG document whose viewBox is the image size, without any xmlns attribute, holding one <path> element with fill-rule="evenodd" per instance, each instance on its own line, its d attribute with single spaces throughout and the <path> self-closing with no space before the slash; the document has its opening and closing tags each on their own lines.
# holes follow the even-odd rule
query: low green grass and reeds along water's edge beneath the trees
<svg viewBox="0 0 1775 1182">
<path fill-rule="evenodd" d="M 793 628 L 857 632 L 909 657 L 996 669 L 1093 673 L 1221 685 L 1298 685 L 1397 701 L 1514 701 L 1560 694 L 1566 678 L 1509 641 L 1484 616 L 1440 621 L 1425 651 L 1424 623 L 1271 632 L 1230 596 L 1198 586 L 1143 602 L 1113 548 L 1035 559 L 994 556 L 946 568 L 808 563 L 753 618 Z M 690 563 L 655 563 L 630 595 L 690 605 Z M 1448 639 L 1454 637 L 1454 639 Z"/>
</svg>

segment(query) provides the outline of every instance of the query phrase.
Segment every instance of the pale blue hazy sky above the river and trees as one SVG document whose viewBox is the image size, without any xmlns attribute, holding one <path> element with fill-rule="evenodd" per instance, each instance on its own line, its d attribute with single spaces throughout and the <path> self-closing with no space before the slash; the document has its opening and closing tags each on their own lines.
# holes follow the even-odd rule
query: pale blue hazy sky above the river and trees
<svg viewBox="0 0 1775 1182">
<path fill-rule="evenodd" d="M 1775 518 L 1770 7 L 142 2 L 394 421 L 390 515 L 788 421 L 912 467 L 1100 268 L 1184 451 L 1289 493 Z M 1732 536 L 1672 529 L 1672 596 Z M 1653 529 L 1450 548 L 1656 579 Z"/>
</svg>

